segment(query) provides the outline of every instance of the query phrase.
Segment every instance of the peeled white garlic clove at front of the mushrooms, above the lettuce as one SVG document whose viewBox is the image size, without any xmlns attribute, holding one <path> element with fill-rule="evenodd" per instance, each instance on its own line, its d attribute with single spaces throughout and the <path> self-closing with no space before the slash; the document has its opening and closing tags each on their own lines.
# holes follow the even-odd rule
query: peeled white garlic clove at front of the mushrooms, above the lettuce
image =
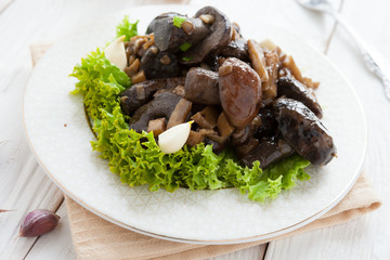
<svg viewBox="0 0 390 260">
<path fill-rule="evenodd" d="M 161 152 L 171 154 L 181 150 L 188 139 L 192 122 L 180 123 L 160 133 L 158 135 L 158 146 Z"/>
</svg>

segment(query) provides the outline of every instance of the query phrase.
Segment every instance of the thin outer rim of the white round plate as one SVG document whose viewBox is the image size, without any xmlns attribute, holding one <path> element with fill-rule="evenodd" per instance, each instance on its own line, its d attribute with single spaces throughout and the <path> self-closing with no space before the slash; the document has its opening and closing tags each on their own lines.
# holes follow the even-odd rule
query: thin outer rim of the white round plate
<svg viewBox="0 0 390 260">
<path fill-rule="evenodd" d="M 136 9 L 147 9 L 147 8 L 167 8 L 167 6 L 190 6 L 190 8 L 196 8 L 196 6 L 199 6 L 197 4 L 148 4 L 148 5 L 139 5 L 139 6 L 134 6 L 134 8 L 131 8 L 131 9 L 126 9 L 126 10 L 122 10 L 122 11 L 119 11 L 119 12 L 114 12 L 114 13 L 110 13 L 108 15 L 106 15 L 105 17 L 103 18 L 107 18 L 107 17 L 110 17 L 110 16 L 115 16 L 115 15 L 118 15 L 118 14 L 122 14 L 129 10 L 136 10 Z M 94 21 L 96 20 L 93 20 L 93 21 L 90 21 L 89 23 L 86 23 L 83 26 L 79 27 L 77 30 L 73 31 L 73 32 L 69 32 L 69 34 L 65 34 L 63 35 L 60 39 L 68 36 L 68 35 L 74 35 L 76 34 L 78 30 L 81 30 L 82 27 L 87 27 L 88 25 L 92 24 Z M 269 24 L 265 24 L 264 26 L 271 26 Z M 277 28 L 280 29 L 281 31 L 287 31 L 286 29 L 283 29 L 278 26 L 274 26 L 272 25 L 272 27 L 274 28 Z M 343 73 L 332 62 L 332 60 L 326 56 L 325 54 L 323 54 L 322 52 L 320 52 L 318 50 L 316 50 L 315 48 L 313 48 L 312 46 L 310 46 L 309 43 L 307 43 L 302 38 L 287 31 L 290 36 L 294 36 L 297 40 L 303 42 L 306 46 L 308 46 L 312 51 L 316 52 L 316 54 L 321 55 L 322 58 L 326 60 L 326 62 L 335 69 L 335 72 L 337 72 L 337 74 L 343 79 L 343 81 L 346 82 L 346 86 L 348 86 L 348 88 L 351 90 L 351 92 L 353 93 L 354 95 L 354 100 L 356 101 L 356 106 L 359 107 L 359 110 L 362 113 L 362 120 L 363 120 L 363 125 L 364 125 L 364 129 L 363 129 L 363 133 L 364 133 L 364 151 L 362 153 L 362 159 L 361 161 L 359 162 L 359 167 L 358 167 L 358 170 L 356 170 L 356 173 L 354 174 L 353 178 L 351 178 L 349 184 L 342 190 L 342 192 L 340 192 L 340 194 L 333 200 L 330 202 L 326 207 L 324 207 L 323 209 L 318 210 L 317 212 L 313 213 L 311 217 L 300 221 L 300 222 L 297 222 L 292 225 L 289 225 L 289 226 L 286 226 L 284 229 L 281 229 L 281 230 L 277 230 L 277 231 L 274 231 L 274 232 L 269 232 L 269 233 L 265 233 L 265 234 L 261 234 L 261 235 L 256 235 L 256 236 L 250 236 L 250 237 L 245 237 L 245 238 L 232 238 L 232 239 L 212 239 L 212 240 L 207 240 L 207 239 L 187 239 L 187 238 L 179 238 L 179 237 L 174 237 L 174 236 L 167 236 L 167 235 L 160 235 L 160 234 L 157 234 L 157 233 L 153 233 L 153 232 L 148 232 L 148 231 L 144 231 L 144 230 L 141 230 L 141 229 L 138 229 L 138 227 L 134 227 L 132 225 L 129 225 L 129 224 L 126 224 L 126 223 L 122 223 L 109 216 L 106 216 L 102 212 L 99 211 L 99 209 L 95 209 L 94 207 L 88 205 L 87 203 L 84 203 L 82 199 L 78 198 L 75 194 L 73 194 L 72 192 L 69 192 L 65 186 L 63 186 L 61 184 L 60 181 L 57 181 L 54 176 L 49 171 L 49 169 L 46 167 L 46 165 L 43 164 L 43 161 L 40 159 L 38 153 L 36 152 L 32 143 L 31 143 L 31 140 L 30 140 L 30 136 L 28 134 L 28 130 L 27 130 L 27 125 L 26 125 L 26 118 L 25 118 L 25 99 L 26 99 L 26 92 L 27 92 L 27 88 L 28 86 L 30 84 L 30 81 L 31 81 L 31 78 L 32 78 L 32 75 L 37 72 L 37 67 L 40 66 L 40 62 L 41 61 L 44 61 L 46 57 L 48 56 L 48 53 L 51 52 L 52 50 L 52 47 L 56 46 L 56 44 L 61 44 L 61 41 L 56 41 L 55 43 L 53 43 L 52 47 L 50 47 L 50 49 L 43 54 L 43 56 L 41 57 L 41 60 L 37 63 L 37 65 L 32 68 L 32 72 L 29 76 L 29 79 L 26 83 L 26 86 L 24 87 L 24 90 L 23 90 L 23 103 L 22 103 L 22 117 L 23 117 L 23 130 L 25 132 L 25 135 L 26 135 L 26 141 L 28 143 L 28 146 L 30 147 L 36 160 L 38 161 L 38 164 L 43 168 L 43 171 L 46 172 L 46 174 L 49 177 L 49 179 L 54 182 L 56 184 L 57 187 L 60 187 L 60 190 L 65 194 L 67 195 L 68 197 L 70 197 L 74 202 L 76 202 L 77 204 L 79 204 L 80 206 L 82 206 L 83 208 L 88 209 L 89 211 L 91 211 L 92 213 L 103 218 L 104 220 L 106 221 L 109 221 L 110 223 L 114 223 L 116 225 L 119 225 L 123 229 L 127 229 L 127 230 L 130 230 L 130 231 L 133 231 L 133 232 L 136 232 L 136 233 L 140 233 L 140 234 L 143 234 L 143 235 L 147 235 L 147 236 L 152 236 L 152 237 L 155 237 L 155 238 L 161 238 L 161 239 L 166 239 L 166 240 L 171 240 L 171 242 L 179 242 L 179 243 L 188 243 L 188 244 L 200 244 L 200 245 L 229 245 L 229 244 L 239 244 L 239 243 L 249 243 L 249 242 L 257 242 L 257 240 L 263 240 L 263 239 L 270 239 L 270 238 L 275 238 L 280 235 L 283 235 L 283 234 L 286 234 L 286 233 L 289 233 L 289 232 L 292 232 L 295 230 L 298 230 L 299 227 L 301 226 L 304 226 L 315 220 L 317 220 L 318 218 L 321 218 L 323 214 L 325 214 L 326 212 L 328 212 L 333 207 L 335 207 L 346 195 L 347 193 L 352 188 L 353 184 L 356 182 L 359 176 L 360 176 L 360 172 L 362 171 L 362 167 L 363 167 L 363 164 L 364 164 L 364 159 L 365 159 L 365 156 L 366 156 L 366 152 L 367 152 L 367 142 L 368 142 L 368 130 L 367 130 L 367 121 L 366 121 L 366 116 L 365 116 L 365 113 L 364 113 L 364 108 L 363 108 L 363 105 L 359 99 L 359 95 L 356 93 L 356 91 L 353 89 L 351 82 L 348 80 L 348 78 L 343 75 Z"/>
</svg>

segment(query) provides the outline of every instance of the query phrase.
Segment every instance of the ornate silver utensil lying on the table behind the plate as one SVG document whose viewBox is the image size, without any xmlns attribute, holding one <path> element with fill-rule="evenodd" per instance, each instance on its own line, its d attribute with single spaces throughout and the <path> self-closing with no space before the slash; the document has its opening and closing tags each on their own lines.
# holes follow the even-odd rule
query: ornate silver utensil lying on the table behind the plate
<svg viewBox="0 0 390 260">
<path fill-rule="evenodd" d="M 390 100 L 390 79 L 384 73 L 384 62 L 380 61 L 380 57 L 375 55 L 374 52 L 368 49 L 366 43 L 360 38 L 360 36 L 353 30 L 353 28 L 339 15 L 336 10 L 327 0 L 296 0 L 303 8 L 324 12 L 333 16 L 344 29 L 354 39 L 354 42 L 363 56 L 363 61 L 367 68 L 372 70 L 376 76 L 380 78 L 385 89 L 385 95 Z"/>
</svg>

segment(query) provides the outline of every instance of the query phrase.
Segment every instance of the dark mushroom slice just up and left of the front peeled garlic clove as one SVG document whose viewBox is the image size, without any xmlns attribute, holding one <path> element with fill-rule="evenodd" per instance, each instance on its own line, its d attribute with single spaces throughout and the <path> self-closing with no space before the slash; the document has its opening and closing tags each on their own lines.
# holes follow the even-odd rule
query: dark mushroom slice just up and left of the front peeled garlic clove
<svg viewBox="0 0 390 260">
<path fill-rule="evenodd" d="M 153 101 L 135 110 L 130 118 L 129 128 L 136 132 L 146 131 L 148 121 L 161 117 L 170 118 L 180 100 L 180 95 L 170 92 L 160 93 Z"/>
</svg>

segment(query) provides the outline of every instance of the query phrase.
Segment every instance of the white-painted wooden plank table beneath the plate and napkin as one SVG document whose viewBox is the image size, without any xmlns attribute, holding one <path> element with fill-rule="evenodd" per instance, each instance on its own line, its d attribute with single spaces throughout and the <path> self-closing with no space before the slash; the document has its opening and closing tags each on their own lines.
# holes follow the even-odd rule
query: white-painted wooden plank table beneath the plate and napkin
<svg viewBox="0 0 390 260">
<path fill-rule="evenodd" d="M 36 162 L 23 132 L 22 96 L 32 69 L 29 44 L 55 41 L 76 26 L 110 12 L 167 2 L 213 4 L 235 16 L 257 12 L 259 21 L 284 27 L 325 52 L 352 82 L 363 103 L 369 138 L 363 169 L 385 199 L 378 211 L 347 224 L 214 259 L 390 259 L 390 102 L 343 30 L 332 18 L 303 10 L 292 0 L 0 0 L 0 209 L 16 209 L 0 213 L 0 259 L 76 259 L 63 195 Z M 390 61 L 390 1 L 333 3 Z M 61 224 L 38 238 L 16 238 L 21 219 L 37 208 L 56 211 Z"/>
</svg>

